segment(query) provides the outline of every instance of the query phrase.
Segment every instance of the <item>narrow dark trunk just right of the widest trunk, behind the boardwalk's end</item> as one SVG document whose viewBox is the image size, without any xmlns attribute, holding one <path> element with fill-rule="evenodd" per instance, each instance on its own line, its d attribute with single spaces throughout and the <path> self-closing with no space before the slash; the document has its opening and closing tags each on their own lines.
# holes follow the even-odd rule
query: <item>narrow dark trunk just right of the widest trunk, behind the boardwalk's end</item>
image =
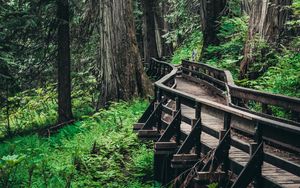
<svg viewBox="0 0 300 188">
<path fill-rule="evenodd" d="M 157 44 L 155 31 L 155 4 L 156 0 L 142 0 L 143 33 L 144 33 L 144 60 L 150 62 L 151 57 L 157 58 Z"/>
</svg>

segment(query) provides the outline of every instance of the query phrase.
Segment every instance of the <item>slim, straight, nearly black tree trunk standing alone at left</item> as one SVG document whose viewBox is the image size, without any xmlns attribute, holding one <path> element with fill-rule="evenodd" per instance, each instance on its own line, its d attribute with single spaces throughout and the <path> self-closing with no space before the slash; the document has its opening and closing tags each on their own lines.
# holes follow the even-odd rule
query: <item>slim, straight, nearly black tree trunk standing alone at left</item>
<svg viewBox="0 0 300 188">
<path fill-rule="evenodd" d="M 71 106 L 71 60 L 68 0 L 57 0 L 57 19 L 59 21 L 57 33 L 58 122 L 63 123 L 73 118 Z"/>
</svg>

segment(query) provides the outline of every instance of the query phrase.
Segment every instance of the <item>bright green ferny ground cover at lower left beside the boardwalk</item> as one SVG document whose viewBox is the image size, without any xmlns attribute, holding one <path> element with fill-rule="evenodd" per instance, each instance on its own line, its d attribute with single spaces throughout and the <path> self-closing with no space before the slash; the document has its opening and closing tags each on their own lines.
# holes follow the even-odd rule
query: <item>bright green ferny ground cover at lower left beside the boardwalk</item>
<svg viewBox="0 0 300 188">
<path fill-rule="evenodd" d="M 115 103 L 49 138 L 1 143 L 0 187 L 151 187 L 152 150 L 132 132 L 146 107 Z"/>
</svg>

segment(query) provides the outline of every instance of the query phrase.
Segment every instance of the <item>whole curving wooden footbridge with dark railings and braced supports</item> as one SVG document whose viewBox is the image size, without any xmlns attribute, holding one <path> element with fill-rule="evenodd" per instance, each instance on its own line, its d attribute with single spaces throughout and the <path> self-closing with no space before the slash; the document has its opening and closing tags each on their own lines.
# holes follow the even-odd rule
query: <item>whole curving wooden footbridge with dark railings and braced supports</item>
<svg viewBox="0 0 300 188">
<path fill-rule="evenodd" d="M 230 72 L 202 63 L 152 59 L 148 74 L 158 80 L 155 99 L 134 130 L 155 141 L 156 181 L 300 187 L 299 99 L 238 87 Z M 275 108 L 291 118 L 276 117 Z"/>
</svg>

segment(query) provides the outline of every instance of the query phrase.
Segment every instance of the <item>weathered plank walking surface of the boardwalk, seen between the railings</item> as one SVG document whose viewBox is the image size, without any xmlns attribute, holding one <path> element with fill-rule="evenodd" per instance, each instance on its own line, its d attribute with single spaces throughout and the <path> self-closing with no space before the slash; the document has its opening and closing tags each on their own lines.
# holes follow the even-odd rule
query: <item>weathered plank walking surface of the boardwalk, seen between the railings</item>
<svg viewBox="0 0 300 188">
<path fill-rule="evenodd" d="M 185 80 L 184 78 L 181 77 L 178 77 L 176 80 L 177 80 L 176 89 L 179 91 L 189 93 L 191 95 L 194 95 L 202 99 L 204 98 L 222 104 L 226 103 L 224 98 L 214 94 L 212 91 L 207 89 L 204 85 L 191 83 L 190 81 Z M 195 118 L 195 109 L 189 108 L 185 105 L 182 105 L 181 109 L 183 115 L 191 119 Z M 212 114 L 208 111 L 204 111 L 201 114 L 201 118 L 205 126 L 210 127 L 211 129 L 217 132 L 223 129 L 223 116 L 218 116 L 218 114 Z M 170 119 L 168 120 L 170 121 Z M 191 132 L 191 126 L 186 123 L 182 123 L 181 130 L 186 135 L 189 135 Z M 234 133 L 233 139 L 235 140 L 239 140 L 240 142 L 244 142 L 245 144 L 250 144 L 251 142 L 254 142 L 253 140 L 250 139 L 245 140 L 245 138 L 244 139 L 243 138 L 244 137 L 242 135 L 239 135 L 238 133 Z M 202 133 L 201 141 L 207 144 L 211 148 L 216 148 L 219 144 L 219 140 L 217 138 L 205 133 Z M 279 150 L 267 145 L 265 146 L 265 148 L 266 148 L 265 149 L 266 152 L 272 153 L 277 157 L 281 157 L 286 160 L 292 161 L 300 166 L 300 156 L 297 156 L 295 154 L 286 151 L 280 152 Z M 247 164 L 250 158 L 248 153 L 243 152 L 232 146 L 230 148 L 229 157 L 243 166 Z M 300 177 L 295 176 L 278 167 L 275 167 L 269 163 L 266 162 L 263 163 L 262 174 L 266 178 L 272 179 L 282 187 L 300 188 Z"/>
</svg>

